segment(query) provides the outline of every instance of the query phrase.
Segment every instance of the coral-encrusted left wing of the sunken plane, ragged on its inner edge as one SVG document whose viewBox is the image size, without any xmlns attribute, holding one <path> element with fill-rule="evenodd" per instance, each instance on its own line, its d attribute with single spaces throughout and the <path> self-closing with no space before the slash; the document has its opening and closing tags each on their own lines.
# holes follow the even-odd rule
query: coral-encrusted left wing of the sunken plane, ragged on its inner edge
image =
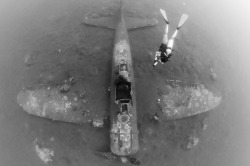
<svg viewBox="0 0 250 166">
<path fill-rule="evenodd" d="M 32 115 L 72 123 L 92 122 L 95 127 L 102 127 L 105 112 L 89 110 L 92 107 L 88 106 L 85 96 L 85 93 L 76 94 L 69 91 L 69 87 L 65 85 L 42 87 L 21 90 L 17 103 Z"/>
</svg>

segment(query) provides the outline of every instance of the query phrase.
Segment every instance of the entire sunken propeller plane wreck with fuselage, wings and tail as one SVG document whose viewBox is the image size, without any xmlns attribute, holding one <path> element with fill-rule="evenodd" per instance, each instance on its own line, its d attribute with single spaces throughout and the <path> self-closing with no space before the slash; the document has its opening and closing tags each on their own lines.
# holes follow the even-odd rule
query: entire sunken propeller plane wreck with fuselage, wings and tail
<svg viewBox="0 0 250 166">
<path fill-rule="evenodd" d="M 154 26 L 158 22 L 149 18 L 124 18 L 122 1 L 120 12 L 116 17 L 117 20 L 114 21 L 114 19 L 112 17 L 96 19 L 85 17 L 83 23 L 116 31 L 109 103 L 110 149 L 115 155 L 128 156 L 139 150 L 139 132 L 137 129 L 133 62 L 127 30 Z M 70 81 L 68 80 L 69 84 Z M 163 116 L 170 120 L 206 112 L 218 106 L 221 101 L 221 97 L 213 95 L 201 84 L 187 84 L 178 80 L 168 80 L 164 84 L 165 89 L 161 89 L 162 93 L 158 97 L 158 103 Z M 81 124 L 91 120 L 91 122 L 98 124 L 106 118 L 105 114 L 98 118 L 83 115 L 81 110 L 85 108 L 85 105 L 74 100 L 76 94 L 71 94 L 70 91 L 62 93 L 60 87 L 41 86 L 33 90 L 23 89 L 17 96 L 17 102 L 29 114 L 58 121 Z M 94 103 L 92 102 L 93 105 Z"/>
</svg>

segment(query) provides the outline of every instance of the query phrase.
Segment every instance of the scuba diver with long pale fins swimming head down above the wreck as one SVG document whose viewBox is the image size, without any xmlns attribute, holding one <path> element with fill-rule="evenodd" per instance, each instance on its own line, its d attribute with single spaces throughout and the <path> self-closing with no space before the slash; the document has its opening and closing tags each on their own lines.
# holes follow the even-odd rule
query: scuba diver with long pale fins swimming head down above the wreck
<svg viewBox="0 0 250 166">
<path fill-rule="evenodd" d="M 161 62 L 162 64 L 169 61 L 169 58 L 173 55 L 173 45 L 174 45 L 174 39 L 177 36 L 177 33 L 179 29 L 182 27 L 182 25 L 185 23 L 185 21 L 188 18 L 188 15 L 182 14 L 180 22 L 177 26 L 177 29 L 175 30 L 173 36 L 168 40 L 168 18 L 165 10 L 160 9 L 161 14 L 166 21 L 166 27 L 165 27 L 165 33 L 163 35 L 163 40 L 162 44 L 159 48 L 159 51 L 155 53 L 155 60 L 153 66 L 155 67 L 158 64 L 158 61 Z"/>
</svg>

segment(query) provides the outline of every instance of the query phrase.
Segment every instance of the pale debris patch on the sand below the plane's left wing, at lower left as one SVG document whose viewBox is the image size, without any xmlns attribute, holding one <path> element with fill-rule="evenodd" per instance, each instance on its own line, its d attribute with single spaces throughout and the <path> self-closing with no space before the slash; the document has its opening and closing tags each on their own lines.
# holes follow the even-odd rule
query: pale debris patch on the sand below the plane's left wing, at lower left
<svg viewBox="0 0 250 166">
<path fill-rule="evenodd" d="M 48 162 L 53 161 L 52 157 L 54 157 L 54 151 L 46 148 L 46 147 L 42 147 L 42 145 L 38 144 L 37 139 L 34 141 L 35 143 L 35 149 L 36 149 L 36 153 L 38 155 L 38 157 L 45 163 L 48 164 Z"/>
</svg>

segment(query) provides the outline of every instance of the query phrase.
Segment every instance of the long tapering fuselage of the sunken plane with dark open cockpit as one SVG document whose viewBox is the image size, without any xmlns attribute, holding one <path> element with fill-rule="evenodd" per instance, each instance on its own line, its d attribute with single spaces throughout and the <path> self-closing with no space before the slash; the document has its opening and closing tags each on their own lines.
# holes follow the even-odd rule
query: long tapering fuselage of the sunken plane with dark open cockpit
<svg viewBox="0 0 250 166">
<path fill-rule="evenodd" d="M 128 32 L 123 16 L 116 27 L 110 89 L 112 153 L 132 155 L 139 150 L 135 82 Z"/>
</svg>

